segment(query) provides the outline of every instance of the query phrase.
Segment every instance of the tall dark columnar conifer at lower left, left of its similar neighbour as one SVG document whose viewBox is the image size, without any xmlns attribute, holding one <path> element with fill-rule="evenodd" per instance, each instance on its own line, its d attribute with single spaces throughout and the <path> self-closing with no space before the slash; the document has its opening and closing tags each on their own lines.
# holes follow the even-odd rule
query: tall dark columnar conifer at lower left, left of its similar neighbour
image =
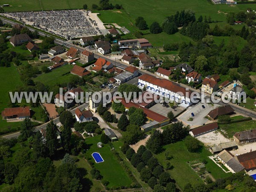
<svg viewBox="0 0 256 192">
<path fill-rule="evenodd" d="M 58 148 L 57 126 L 53 123 L 53 121 L 49 122 L 47 125 L 45 139 L 49 157 L 53 157 Z"/>
</svg>

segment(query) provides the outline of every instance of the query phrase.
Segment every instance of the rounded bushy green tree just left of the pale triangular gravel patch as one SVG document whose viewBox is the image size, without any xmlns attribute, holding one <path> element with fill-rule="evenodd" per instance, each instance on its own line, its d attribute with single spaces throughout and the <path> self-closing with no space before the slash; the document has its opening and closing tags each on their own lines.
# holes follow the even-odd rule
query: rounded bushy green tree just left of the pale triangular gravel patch
<svg viewBox="0 0 256 192">
<path fill-rule="evenodd" d="M 137 143 L 144 137 L 138 125 L 128 125 L 126 130 L 127 131 L 123 133 L 123 141 L 129 145 Z"/>
</svg>

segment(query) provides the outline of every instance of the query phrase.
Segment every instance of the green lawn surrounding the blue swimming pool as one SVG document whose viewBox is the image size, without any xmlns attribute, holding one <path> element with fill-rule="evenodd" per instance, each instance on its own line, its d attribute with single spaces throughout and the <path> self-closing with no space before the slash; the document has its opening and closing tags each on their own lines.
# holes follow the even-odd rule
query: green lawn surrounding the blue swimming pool
<svg viewBox="0 0 256 192">
<path fill-rule="evenodd" d="M 93 152 L 99 152 L 104 162 L 94 163 L 94 166 L 100 171 L 103 179 L 109 181 L 108 187 L 129 187 L 132 183 L 132 180 L 122 168 L 119 161 L 116 160 L 116 157 L 114 157 L 112 154 L 110 145 L 105 144 L 102 148 L 97 147 L 97 143 L 100 142 L 100 137 L 101 135 L 86 139 L 86 144 L 90 146 L 90 149 L 85 154 L 86 159 L 95 162 L 92 154 Z"/>
</svg>

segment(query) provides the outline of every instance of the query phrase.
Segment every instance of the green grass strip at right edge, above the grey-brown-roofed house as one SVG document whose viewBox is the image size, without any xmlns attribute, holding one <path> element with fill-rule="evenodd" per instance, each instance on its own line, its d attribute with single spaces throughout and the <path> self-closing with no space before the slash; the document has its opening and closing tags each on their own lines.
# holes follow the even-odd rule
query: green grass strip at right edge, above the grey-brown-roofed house
<svg viewBox="0 0 256 192">
<path fill-rule="evenodd" d="M 237 132 L 254 129 L 255 127 L 256 127 L 256 121 L 254 120 L 219 125 L 220 130 L 224 130 L 225 132 L 223 133 L 221 131 L 221 133 L 228 138 L 232 138 L 233 135 Z"/>
</svg>

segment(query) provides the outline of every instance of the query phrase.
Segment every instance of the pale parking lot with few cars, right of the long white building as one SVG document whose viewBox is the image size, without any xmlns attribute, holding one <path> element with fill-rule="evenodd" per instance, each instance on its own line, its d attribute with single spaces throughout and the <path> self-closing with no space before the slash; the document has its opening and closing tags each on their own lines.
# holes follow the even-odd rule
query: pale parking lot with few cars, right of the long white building
<svg viewBox="0 0 256 192">
<path fill-rule="evenodd" d="M 204 105 L 205 108 L 202 107 Z M 207 103 L 198 103 L 197 105 L 192 105 L 187 109 L 186 113 L 183 113 L 179 120 L 181 120 L 185 125 L 190 125 L 191 128 L 198 127 L 200 125 L 205 124 L 207 121 L 209 121 L 207 118 L 204 118 L 207 116 L 207 114 L 212 111 L 213 109 L 217 108 L 218 104 L 207 104 Z M 192 114 L 194 116 L 192 116 Z M 192 118 L 192 121 L 189 121 L 189 118 Z"/>
</svg>

